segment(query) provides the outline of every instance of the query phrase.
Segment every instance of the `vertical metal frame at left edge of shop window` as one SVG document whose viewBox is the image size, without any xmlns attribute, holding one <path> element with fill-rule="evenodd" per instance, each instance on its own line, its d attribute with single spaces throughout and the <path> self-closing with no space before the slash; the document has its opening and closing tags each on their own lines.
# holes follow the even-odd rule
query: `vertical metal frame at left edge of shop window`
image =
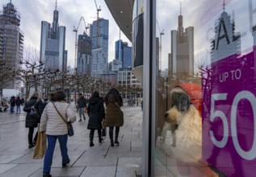
<svg viewBox="0 0 256 177">
<path fill-rule="evenodd" d="M 142 175 L 154 176 L 156 113 L 156 1 L 144 0 Z"/>
</svg>

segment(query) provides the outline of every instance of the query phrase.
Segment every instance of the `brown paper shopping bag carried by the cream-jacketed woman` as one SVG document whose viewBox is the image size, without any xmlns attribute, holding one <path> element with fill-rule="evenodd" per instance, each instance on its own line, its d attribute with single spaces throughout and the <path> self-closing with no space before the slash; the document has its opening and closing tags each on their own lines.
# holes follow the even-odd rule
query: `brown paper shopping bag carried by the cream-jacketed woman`
<svg viewBox="0 0 256 177">
<path fill-rule="evenodd" d="M 44 154 L 46 151 L 46 134 L 44 132 L 38 132 L 37 139 L 36 139 L 36 148 L 34 151 L 33 158 L 34 159 L 42 159 L 44 158 Z"/>
</svg>

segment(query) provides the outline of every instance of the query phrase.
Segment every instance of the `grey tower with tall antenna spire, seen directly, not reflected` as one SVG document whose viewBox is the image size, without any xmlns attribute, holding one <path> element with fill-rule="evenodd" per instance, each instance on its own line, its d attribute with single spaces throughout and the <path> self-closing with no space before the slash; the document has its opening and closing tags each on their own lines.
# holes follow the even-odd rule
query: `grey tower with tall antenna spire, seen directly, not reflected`
<svg viewBox="0 0 256 177">
<path fill-rule="evenodd" d="M 59 27 L 59 12 L 57 4 L 53 11 L 53 22 L 51 24 L 42 21 L 40 61 L 44 63 L 44 69 L 66 71 L 67 51 L 65 51 L 65 27 Z"/>
</svg>

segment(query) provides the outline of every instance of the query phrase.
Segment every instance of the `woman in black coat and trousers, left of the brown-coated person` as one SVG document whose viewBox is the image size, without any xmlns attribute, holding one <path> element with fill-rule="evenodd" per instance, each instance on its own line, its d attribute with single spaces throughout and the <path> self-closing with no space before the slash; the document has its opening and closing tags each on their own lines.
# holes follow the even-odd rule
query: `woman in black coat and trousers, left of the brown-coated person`
<svg viewBox="0 0 256 177">
<path fill-rule="evenodd" d="M 90 146 L 94 146 L 94 130 L 98 130 L 99 143 L 103 141 L 103 138 L 101 138 L 101 121 L 105 114 L 103 100 L 99 97 L 97 91 L 90 97 L 87 113 L 89 116 L 87 129 L 90 130 Z"/>
</svg>

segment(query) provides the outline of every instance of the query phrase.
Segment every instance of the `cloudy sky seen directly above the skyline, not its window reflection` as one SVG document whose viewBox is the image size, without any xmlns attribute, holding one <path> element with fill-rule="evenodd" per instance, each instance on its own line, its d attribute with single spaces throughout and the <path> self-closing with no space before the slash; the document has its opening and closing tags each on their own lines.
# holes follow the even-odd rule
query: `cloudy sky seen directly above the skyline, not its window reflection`
<svg viewBox="0 0 256 177">
<path fill-rule="evenodd" d="M 2 5 L 6 5 L 10 0 L 1 0 L 0 2 L 0 11 L 2 12 Z M 11 2 L 21 16 L 20 29 L 24 33 L 24 53 L 31 51 L 31 48 L 36 48 L 39 51 L 41 21 L 52 23 L 56 0 L 12 0 Z M 115 41 L 120 37 L 120 29 L 107 9 L 105 1 L 96 0 L 96 2 L 101 7 L 99 17 L 109 20 L 108 61 L 110 62 L 115 58 Z M 78 27 L 81 17 L 84 17 L 86 23 L 92 23 L 96 20 L 96 6 L 94 0 L 58 0 L 57 10 L 59 11 L 59 26 L 66 27 L 65 49 L 68 50 L 68 65 L 73 68 L 75 50 L 73 27 Z M 78 28 L 78 35 L 82 35 L 84 30 L 85 25 L 81 23 Z M 128 42 L 128 46 L 131 46 L 123 33 L 121 33 L 121 39 Z"/>
</svg>

